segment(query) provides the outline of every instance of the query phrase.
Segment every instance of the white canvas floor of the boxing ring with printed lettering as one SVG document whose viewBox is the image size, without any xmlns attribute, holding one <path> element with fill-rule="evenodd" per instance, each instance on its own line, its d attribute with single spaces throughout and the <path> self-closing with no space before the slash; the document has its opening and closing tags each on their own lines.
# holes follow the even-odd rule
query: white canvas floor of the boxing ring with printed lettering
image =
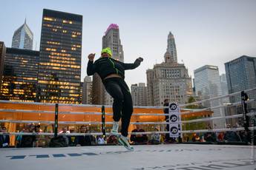
<svg viewBox="0 0 256 170">
<path fill-rule="evenodd" d="M 0 169 L 255 170 L 256 146 L 170 144 L 0 149 Z"/>
</svg>

